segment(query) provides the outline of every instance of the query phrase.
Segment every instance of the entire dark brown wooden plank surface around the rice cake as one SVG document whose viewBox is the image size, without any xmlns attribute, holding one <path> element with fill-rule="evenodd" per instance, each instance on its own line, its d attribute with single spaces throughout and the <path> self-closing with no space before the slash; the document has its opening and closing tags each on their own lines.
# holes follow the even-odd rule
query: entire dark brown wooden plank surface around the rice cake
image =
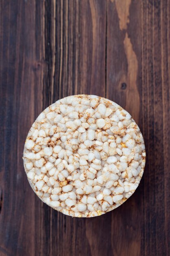
<svg viewBox="0 0 170 256">
<path fill-rule="evenodd" d="M 27 132 L 72 94 L 120 104 L 147 162 L 130 199 L 79 219 L 43 204 L 24 173 Z M 0 256 L 170 255 L 170 0 L 0 0 Z"/>
</svg>

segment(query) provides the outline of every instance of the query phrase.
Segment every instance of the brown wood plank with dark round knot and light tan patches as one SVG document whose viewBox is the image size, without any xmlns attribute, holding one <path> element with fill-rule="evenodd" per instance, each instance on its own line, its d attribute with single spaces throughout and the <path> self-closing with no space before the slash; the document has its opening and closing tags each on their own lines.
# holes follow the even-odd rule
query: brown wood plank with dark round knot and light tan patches
<svg viewBox="0 0 170 256">
<path fill-rule="evenodd" d="M 125 108 L 141 128 L 141 3 L 108 0 L 107 98 Z M 136 33 L 137 31 L 137 33 Z M 114 256 L 141 256 L 143 181 L 135 194 L 111 215 Z"/>
</svg>

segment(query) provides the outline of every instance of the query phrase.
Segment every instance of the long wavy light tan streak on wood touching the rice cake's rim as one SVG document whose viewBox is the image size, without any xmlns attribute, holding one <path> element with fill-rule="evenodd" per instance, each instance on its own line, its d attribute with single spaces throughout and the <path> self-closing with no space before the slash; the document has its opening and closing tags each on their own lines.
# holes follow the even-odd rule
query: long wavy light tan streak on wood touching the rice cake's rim
<svg viewBox="0 0 170 256">
<path fill-rule="evenodd" d="M 138 72 L 138 62 L 137 56 L 133 51 L 132 43 L 130 38 L 128 38 L 128 33 L 124 39 L 124 49 L 126 53 L 126 58 L 128 62 L 128 74 L 126 75 L 126 81 L 128 84 L 128 90 L 126 94 L 126 110 L 130 112 L 132 117 L 136 122 L 139 121 L 139 106 L 140 98 L 137 88 L 137 72 Z"/>
</svg>

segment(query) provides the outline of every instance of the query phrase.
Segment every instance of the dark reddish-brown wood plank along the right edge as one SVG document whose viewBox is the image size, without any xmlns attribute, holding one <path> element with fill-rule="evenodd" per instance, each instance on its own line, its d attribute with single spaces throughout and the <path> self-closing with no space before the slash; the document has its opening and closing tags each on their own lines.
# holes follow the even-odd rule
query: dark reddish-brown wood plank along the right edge
<svg viewBox="0 0 170 256">
<path fill-rule="evenodd" d="M 168 1 L 142 2 L 142 115 L 148 152 L 144 175 L 145 255 L 170 254 L 168 5 Z"/>
</svg>

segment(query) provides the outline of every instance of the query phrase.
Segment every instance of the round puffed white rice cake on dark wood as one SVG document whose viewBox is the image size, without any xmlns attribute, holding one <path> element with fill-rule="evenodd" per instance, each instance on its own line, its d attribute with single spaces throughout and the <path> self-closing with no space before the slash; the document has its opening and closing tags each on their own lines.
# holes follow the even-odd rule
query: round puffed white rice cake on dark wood
<svg viewBox="0 0 170 256">
<path fill-rule="evenodd" d="M 131 115 L 95 95 L 65 97 L 35 120 L 24 168 L 38 197 L 66 215 L 93 217 L 125 202 L 139 185 L 145 145 Z"/>
</svg>

